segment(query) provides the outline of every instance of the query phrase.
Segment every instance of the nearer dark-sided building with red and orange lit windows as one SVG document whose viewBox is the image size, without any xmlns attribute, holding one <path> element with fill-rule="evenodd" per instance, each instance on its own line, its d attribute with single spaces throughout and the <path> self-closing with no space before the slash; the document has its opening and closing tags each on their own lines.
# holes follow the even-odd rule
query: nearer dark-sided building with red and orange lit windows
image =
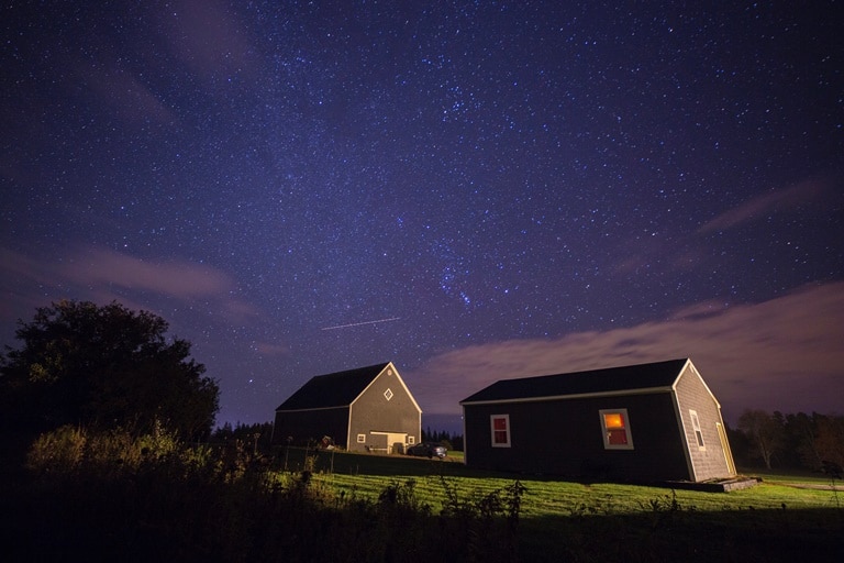
<svg viewBox="0 0 844 563">
<path fill-rule="evenodd" d="M 499 380 L 460 401 L 470 467 L 622 482 L 735 476 L 688 358 Z"/>
</svg>

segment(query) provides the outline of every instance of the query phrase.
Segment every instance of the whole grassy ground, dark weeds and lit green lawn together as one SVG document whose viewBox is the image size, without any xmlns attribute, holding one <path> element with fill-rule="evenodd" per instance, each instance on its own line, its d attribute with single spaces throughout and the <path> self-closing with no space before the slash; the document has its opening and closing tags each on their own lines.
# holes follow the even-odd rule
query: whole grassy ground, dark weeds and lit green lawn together
<svg viewBox="0 0 844 563">
<path fill-rule="evenodd" d="M 2 489 L 14 561 L 844 560 L 830 490 L 570 483 L 65 428 Z M 287 471 L 285 471 L 287 468 Z"/>
</svg>

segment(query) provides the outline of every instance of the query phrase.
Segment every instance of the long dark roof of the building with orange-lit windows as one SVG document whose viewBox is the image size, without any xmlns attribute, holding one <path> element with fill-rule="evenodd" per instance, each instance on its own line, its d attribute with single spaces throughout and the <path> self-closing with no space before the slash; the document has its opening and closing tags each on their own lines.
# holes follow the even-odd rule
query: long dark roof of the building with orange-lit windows
<svg viewBox="0 0 844 563">
<path fill-rule="evenodd" d="M 670 390 L 688 358 L 626 365 L 570 374 L 501 379 L 460 401 L 499 402 L 564 398 L 579 395 L 618 395 L 645 389 Z"/>
</svg>

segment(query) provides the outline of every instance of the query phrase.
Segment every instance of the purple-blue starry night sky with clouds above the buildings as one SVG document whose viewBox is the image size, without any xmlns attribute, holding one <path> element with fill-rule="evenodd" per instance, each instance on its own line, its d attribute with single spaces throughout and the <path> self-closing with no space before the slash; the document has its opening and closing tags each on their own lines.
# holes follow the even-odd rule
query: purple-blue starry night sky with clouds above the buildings
<svg viewBox="0 0 844 563">
<path fill-rule="evenodd" d="M 219 423 L 387 361 L 423 424 L 687 356 L 841 413 L 841 3 L 702 3 L 5 2 L 0 339 L 155 312 Z"/>
</svg>

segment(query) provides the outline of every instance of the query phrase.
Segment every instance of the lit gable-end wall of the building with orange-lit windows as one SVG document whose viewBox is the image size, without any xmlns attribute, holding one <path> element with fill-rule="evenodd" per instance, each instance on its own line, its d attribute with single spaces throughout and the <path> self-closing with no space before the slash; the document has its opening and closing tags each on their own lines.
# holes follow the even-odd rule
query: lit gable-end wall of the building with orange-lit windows
<svg viewBox="0 0 844 563">
<path fill-rule="evenodd" d="M 700 374 L 689 363 L 680 374 L 676 385 L 677 405 L 680 417 L 680 432 L 688 443 L 689 461 L 691 463 L 691 481 L 707 481 L 733 476 L 734 473 L 728 465 L 725 452 L 718 432 L 718 423 L 721 419 L 721 408 L 710 393 Z M 703 434 L 703 448 L 698 445 L 690 410 L 698 413 L 701 433 Z"/>
</svg>

